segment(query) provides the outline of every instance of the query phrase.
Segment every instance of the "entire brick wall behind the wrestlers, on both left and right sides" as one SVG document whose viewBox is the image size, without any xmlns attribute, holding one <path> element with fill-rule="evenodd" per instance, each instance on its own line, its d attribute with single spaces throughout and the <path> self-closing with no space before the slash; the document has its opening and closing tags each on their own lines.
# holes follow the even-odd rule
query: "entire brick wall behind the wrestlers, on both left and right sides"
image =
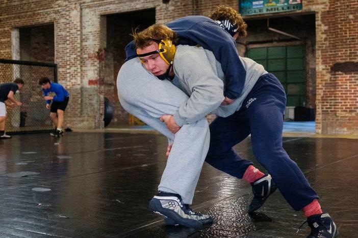
<svg viewBox="0 0 358 238">
<path fill-rule="evenodd" d="M 2 1 L 0 58 L 13 58 L 13 29 L 53 24 L 59 82 L 71 93 L 65 124 L 100 128 L 107 94 L 101 88 L 106 83 L 101 72 L 106 57 L 101 53 L 106 48 L 103 16 L 155 8 L 156 22 L 167 22 L 186 15 L 208 15 L 220 4 L 238 8 L 238 1 Z M 316 131 L 358 133 L 358 0 L 303 0 L 302 4 L 302 12 L 316 13 L 316 45 L 310 46 L 316 50 L 316 67 L 310 63 L 308 70 L 312 78 L 308 88 L 315 86 L 316 79 Z M 107 90 L 115 92 L 115 88 Z"/>
</svg>

